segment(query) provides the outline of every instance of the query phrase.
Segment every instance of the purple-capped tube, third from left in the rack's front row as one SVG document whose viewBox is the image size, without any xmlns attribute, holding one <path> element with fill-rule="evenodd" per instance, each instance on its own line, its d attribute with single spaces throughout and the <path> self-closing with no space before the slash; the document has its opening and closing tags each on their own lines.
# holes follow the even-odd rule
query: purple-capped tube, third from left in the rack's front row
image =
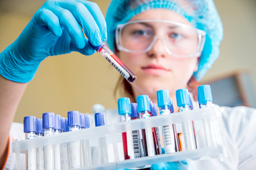
<svg viewBox="0 0 256 170">
<path fill-rule="evenodd" d="M 78 111 L 67 113 L 69 131 L 78 131 L 80 117 Z M 80 168 L 80 141 L 67 142 L 68 169 Z"/>
</svg>

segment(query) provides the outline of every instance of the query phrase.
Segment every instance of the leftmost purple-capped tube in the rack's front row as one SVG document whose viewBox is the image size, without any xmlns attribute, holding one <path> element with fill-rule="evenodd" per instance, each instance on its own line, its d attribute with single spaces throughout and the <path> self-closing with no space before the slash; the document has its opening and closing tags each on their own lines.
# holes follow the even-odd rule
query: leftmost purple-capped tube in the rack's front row
<svg viewBox="0 0 256 170">
<path fill-rule="evenodd" d="M 36 117 L 26 116 L 23 120 L 24 133 L 26 140 L 36 138 Z M 27 150 L 26 153 L 26 169 L 36 169 L 36 148 Z"/>
</svg>

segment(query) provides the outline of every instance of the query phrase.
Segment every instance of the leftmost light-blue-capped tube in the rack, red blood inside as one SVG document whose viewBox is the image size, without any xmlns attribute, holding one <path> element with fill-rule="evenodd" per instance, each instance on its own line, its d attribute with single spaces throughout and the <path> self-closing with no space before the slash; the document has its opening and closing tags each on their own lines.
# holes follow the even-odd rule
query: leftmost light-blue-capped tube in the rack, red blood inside
<svg viewBox="0 0 256 170">
<path fill-rule="evenodd" d="M 131 102 L 128 97 L 122 97 L 117 101 L 118 114 L 121 122 L 131 121 Z M 122 145 L 125 159 L 134 159 L 134 146 L 132 145 L 131 131 L 122 132 Z"/>
</svg>

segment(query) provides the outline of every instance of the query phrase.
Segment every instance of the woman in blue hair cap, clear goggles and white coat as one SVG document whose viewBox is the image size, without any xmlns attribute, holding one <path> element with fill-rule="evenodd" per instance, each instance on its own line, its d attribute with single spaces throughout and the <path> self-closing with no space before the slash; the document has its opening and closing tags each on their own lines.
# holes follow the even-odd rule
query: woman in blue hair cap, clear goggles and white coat
<svg viewBox="0 0 256 170">
<path fill-rule="evenodd" d="M 168 89 L 176 106 L 175 91 L 191 87 L 194 79 L 200 80 L 219 55 L 222 25 L 210 0 L 116 0 L 110 4 L 106 21 L 109 47 L 137 76 L 135 83 L 125 81 L 127 95 L 133 102 L 136 96 L 146 94 L 156 103 L 156 91 Z M 106 40 L 105 20 L 96 4 L 78 0 L 47 1 L 18 39 L 0 54 L 0 123 L 6 127 L 0 131 L 0 167 L 4 166 L 2 160 L 8 154 L 9 129 L 18 102 L 40 62 L 49 55 L 71 51 L 93 53 L 80 25 L 93 45 Z M 256 132 L 255 110 L 222 107 L 221 111 L 229 160 L 198 161 L 193 162 L 194 166 L 198 169 L 255 167 L 255 135 L 245 135 L 248 129 L 251 134 Z M 10 160 L 11 156 L 5 167 L 10 167 Z M 160 169 L 161 166 L 184 168 L 181 163 L 153 167 Z"/>
</svg>

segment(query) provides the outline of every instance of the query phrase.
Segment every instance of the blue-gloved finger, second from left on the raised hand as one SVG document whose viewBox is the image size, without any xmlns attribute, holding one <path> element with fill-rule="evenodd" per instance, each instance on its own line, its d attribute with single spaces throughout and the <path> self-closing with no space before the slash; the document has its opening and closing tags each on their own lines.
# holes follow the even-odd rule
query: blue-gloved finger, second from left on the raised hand
<svg viewBox="0 0 256 170">
<path fill-rule="evenodd" d="M 68 35 L 70 36 L 72 42 L 76 45 L 77 48 L 80 48 L 80 49 L 84 48 L 85 37 L 83 35 L 82 29 L 78 24 L 76 18 L 73 16 L 73 14 L 70 11 L 58 6 L 57 2 L 52 1 L 52 3 L 55 3 L 55 4 L 54 5 L 51 4 L 51 7 L 50 7 L 51 11 L 58 17 L 62 27 L 64 27 L 67 30 Z"/>
</svg>

